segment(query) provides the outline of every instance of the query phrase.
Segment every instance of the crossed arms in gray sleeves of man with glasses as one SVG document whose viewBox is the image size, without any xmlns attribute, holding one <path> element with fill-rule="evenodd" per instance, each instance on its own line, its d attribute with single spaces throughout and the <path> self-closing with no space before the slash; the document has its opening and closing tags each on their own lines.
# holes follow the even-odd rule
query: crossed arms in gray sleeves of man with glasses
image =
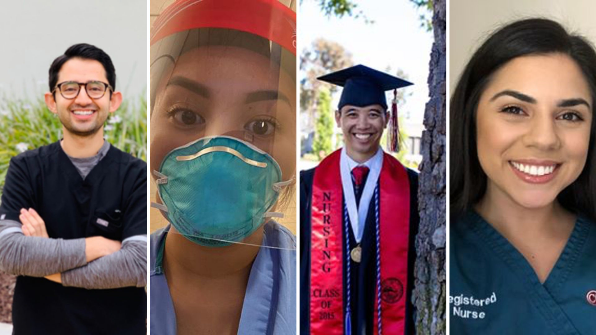
<svg viewBox="0 0 596 335">
<path fill-rule="evenodd" d="M 101 236 L 63 240 L 48 237 L 33 209 L 21 209 L 19 219 L 22 226 L 0 221 L 0 269 L 85 289 L 145 286 L 145 235 L 122 243 Z"/>
</svg>

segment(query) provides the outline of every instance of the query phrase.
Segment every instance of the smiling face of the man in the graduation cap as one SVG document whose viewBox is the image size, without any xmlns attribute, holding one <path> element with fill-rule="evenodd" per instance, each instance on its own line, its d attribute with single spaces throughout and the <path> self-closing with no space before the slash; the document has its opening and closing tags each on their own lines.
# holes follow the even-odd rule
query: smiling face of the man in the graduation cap
<svg viewBox="0 0 596 335">
<path fill-rule="evenodd" d="M 387 126 L 387 111 L 381 105 L 343 106 L 336 111 L 336 122 L 342 128 L 348 156 L 364 163 L 375 153 Z"/>
</svg>

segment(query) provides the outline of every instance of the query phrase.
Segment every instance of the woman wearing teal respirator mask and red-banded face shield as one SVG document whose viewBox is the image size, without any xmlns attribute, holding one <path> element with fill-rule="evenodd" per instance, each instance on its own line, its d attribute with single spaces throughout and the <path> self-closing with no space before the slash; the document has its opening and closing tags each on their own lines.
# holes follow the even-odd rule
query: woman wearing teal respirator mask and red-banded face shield
<svg viewBox="0 0 596 335">
<path fill-rule="evenodd" d="M 296 14 L 178 1 L 151 38 L 151 333 L 296 333 Z"/>
</svg>

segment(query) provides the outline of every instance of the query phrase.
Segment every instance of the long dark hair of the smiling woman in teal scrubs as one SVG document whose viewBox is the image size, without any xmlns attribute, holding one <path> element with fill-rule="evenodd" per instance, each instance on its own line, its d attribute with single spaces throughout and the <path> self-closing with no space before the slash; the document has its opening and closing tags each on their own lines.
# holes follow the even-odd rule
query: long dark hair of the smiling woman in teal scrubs
<svg viewBox="0 0 596 335">
<path fill-rule="evenodd" d="M 496 30 L 474 53 L 449 103 L 449 208 L 457 220 L 486 192 L 486 174 L 480 167 L 476 144 L 476 111 L 480 96 L 494 73 L 523 55 L 564 54 L 580 67 L 592 96 L 592 125 L 586 165 L 581 175 L 557 197 L 567 209 L 596 220 L 596 52 L 579 35 L 555 21 L 528 18 Z"/>
</svg>

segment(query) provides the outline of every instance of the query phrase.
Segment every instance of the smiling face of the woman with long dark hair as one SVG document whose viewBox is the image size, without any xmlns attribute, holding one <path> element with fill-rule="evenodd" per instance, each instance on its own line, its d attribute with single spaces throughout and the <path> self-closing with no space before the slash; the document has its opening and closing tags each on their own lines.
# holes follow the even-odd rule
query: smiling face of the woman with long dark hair
<svg viewBox="0 0 596 335">
<path fill-rule="evenodd" d="M 496 71 L 476 112 L 484 199 L 553 204 L 585 166 L 592 103 L 588 82 L 567 55 L 518 57 Z"/>
</svg>

